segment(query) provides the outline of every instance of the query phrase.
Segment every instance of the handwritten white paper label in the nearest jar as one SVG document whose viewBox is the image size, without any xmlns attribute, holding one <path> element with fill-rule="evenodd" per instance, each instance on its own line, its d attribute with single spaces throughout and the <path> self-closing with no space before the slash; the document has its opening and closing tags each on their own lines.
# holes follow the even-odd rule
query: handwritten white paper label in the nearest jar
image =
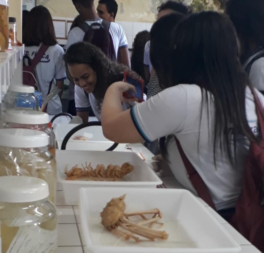
<svg viewBox="0 0 264 253">
<path fill-rule="evenodd" d="M 7 253 L 53 253 L 57 248 L 57 231 L 39 226 L 20 227 Z"/>
</svg>

